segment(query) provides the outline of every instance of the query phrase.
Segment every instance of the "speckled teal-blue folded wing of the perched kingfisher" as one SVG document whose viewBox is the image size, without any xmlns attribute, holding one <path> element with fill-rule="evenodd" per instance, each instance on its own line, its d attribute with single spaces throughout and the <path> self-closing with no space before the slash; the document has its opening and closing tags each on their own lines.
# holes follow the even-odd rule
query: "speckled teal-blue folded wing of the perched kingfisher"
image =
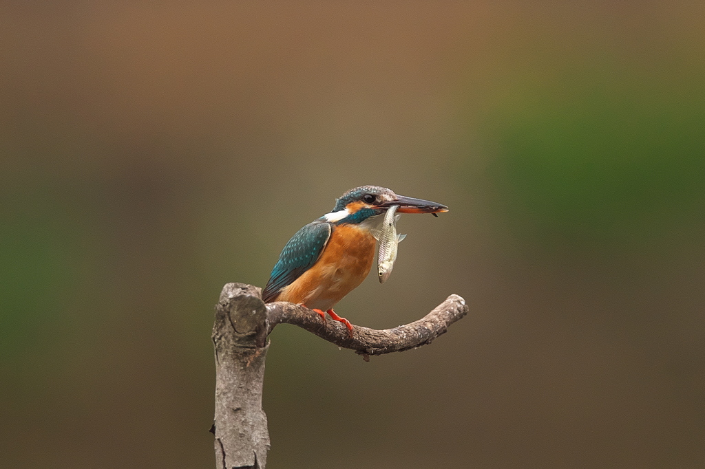
<svg viewBox="0 0 705 469">
<path fill-rule="evenodd" d="M 332 230 L 330 223 L 316 220 L 302 227 L 289 239 L 262 291 L 262 300 L 265 303 L 273 301 L 281 289 L 292 284 L 318 261 Z"/>
</svg>

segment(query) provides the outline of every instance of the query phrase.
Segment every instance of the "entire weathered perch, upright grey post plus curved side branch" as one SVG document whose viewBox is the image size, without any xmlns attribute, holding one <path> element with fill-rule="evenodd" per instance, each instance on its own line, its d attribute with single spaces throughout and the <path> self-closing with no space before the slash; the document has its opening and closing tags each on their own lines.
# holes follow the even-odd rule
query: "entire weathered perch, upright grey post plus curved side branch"
<svg viewBox="0 0 705 469">
<path fill-rule="evenodd" d="M 345 326 L 303 306 L 283 301 L 265 305 L 261 289 L 241 283 L 223 287 L 216 306 L 213 345 L 216 359 L 214 427 L 216 468 L 264 469 L 269 450 L 266 415 L 262 411 L 266 336 L 277 324 L 298 325 L 333 344 L 370 355 L 416 349 L 430 344 L 467 314 L 461 296 L 452 294 L 413 323 L 374 330 Z"/>
</svg>

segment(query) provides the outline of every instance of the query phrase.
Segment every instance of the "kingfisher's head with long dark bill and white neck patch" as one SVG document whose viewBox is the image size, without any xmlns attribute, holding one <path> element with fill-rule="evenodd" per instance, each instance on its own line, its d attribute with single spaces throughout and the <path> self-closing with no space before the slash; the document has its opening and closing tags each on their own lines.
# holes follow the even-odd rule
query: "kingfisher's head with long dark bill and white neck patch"
<svg viewBox="0 0 705 469">
<path fill-rule="evenodd" d="M 448 207 L 436 202 L 400 196 L 391 189 L 379 186 L 355 187 L 336 200 L 336 206 L 324 218 L 331 223 L 362 223 L 381 215 L 396 205 L 397 213 L 439 213 Z"/>
</svg>

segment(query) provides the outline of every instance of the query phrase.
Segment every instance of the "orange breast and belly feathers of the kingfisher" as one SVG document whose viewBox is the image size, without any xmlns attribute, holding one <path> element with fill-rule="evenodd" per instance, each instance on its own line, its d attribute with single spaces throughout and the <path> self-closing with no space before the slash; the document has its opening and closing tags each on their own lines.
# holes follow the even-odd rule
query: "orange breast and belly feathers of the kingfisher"
<svg viewBox="0 0 705 469">
<path fill-rule="evenodd" d="M 318 261 L 279 294 L 278 301 L 326 311 L 362 283 L 372 268 L 376 240 L 368 230 L 338 225 Z"/>
</svg>

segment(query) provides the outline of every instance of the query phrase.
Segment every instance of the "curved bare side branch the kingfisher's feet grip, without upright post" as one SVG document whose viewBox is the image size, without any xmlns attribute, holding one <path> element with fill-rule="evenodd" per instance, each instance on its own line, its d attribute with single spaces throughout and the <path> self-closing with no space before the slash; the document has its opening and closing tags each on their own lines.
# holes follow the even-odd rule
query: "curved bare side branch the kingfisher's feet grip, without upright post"
<svg viewBox="0 0 705 469">
<path fill-rule="evenodd" d="M 341 323 L 328 319 L 324 324 L 319 315 L 303 306 L 277 301 L 266 305 L 266 310 L 269 332 L 281 323 L 298 325 L 321 339 L 366 356 L 389 354 L 430 344 L 433 339 L 445 333 L 451 324 L 465 316 L 468 308 L 461 296 L 452 294 L 433 311 L 413 323 L 385 330 L 354 325 L 353 337 L 350 337 Z"/>
</svg>

